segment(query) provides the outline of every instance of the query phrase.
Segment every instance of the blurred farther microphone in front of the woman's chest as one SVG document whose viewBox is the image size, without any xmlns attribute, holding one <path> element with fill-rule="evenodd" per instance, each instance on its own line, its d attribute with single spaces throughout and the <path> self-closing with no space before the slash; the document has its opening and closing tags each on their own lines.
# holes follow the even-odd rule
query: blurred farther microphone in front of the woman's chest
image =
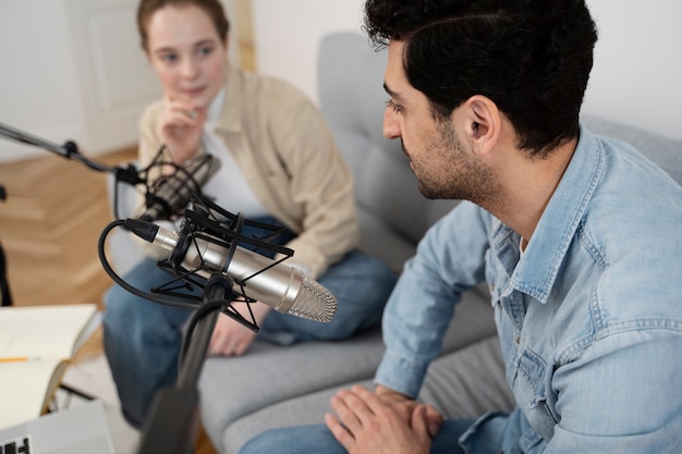
<svg viewBox="0 0 682 454">
<path fill-rule="evenodd" d="M 202 185 L 220 168 L 220 160 L 211 155 L 190 159 L 175 172 L 156 181 L 156 192 L 147 192 L 146 209 L 138 216 L 144 221 L 170 219 L 187 206 L 192 192 L 199 192 Z"/>
</svg>

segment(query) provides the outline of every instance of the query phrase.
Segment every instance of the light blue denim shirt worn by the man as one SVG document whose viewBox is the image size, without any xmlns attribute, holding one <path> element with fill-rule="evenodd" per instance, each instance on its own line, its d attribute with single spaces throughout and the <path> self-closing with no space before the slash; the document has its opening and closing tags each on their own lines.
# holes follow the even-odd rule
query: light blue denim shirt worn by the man
<svg viewBox="0 0 682 454">
<path fill-rule="evenodd" d="M 416 396 L 485 280 L 516 408 L 480 417 L 470 454 L 682 452 L 682 188 L 582 127 L 523 256 L 520 240 L 470 203 L 437 222 L 388 303 L 376 382 Z"/>
</svg>

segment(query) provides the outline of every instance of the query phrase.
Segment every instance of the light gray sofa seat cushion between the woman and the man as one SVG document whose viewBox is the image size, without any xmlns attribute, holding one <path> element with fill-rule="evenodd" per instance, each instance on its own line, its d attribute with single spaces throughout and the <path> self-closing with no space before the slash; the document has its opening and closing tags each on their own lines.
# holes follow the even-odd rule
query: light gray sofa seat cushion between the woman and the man
<svg viewBox="0 0 682 454">
<path fill-rule="evenodd" d="M 477 291 L 467 292 L 443 342 L 443 353 L 495 334 L 492 308 Z M 280 402 L 346 383 L 370 380 L 383 355 L 379 329 L 342 342 L 279 346 L 256 340 L 240 357 L 209 357 L 199 378 L 200 413 L 216 447 L 236 420 Z"/>
</svg>

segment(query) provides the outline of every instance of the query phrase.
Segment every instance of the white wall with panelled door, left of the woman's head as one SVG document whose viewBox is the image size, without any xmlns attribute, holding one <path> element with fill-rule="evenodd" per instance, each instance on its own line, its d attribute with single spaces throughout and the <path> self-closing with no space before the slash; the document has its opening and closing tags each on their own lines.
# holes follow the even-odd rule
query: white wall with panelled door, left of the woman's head
<svg viewBox="0 0 682 454">
<path fill-rule="evenodd" d="M 58 146 L 73 139 L 93 157 L 134 145 L 144 107 L 160 95 L 137 3 L 0 0 L 0 123 Z M 46 154 L 0 136 L 0 162 Z"/>
</svg>

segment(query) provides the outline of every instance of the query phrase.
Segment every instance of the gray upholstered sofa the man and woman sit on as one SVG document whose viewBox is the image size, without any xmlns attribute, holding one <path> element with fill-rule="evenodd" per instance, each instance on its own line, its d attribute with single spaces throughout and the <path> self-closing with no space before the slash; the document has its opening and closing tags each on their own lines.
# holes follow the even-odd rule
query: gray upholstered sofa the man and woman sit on
<svg viewBox="0 0 682 454">
<path fill-rule="evenodd" d="M 385 62 L 385 53 L 376 53 L 361 35 L 325 37 L 319 96 L 355 175 L 362 246 L 400 270 L 429 225 L 456 203 L 421 196 L 400 143 L 383 138 Z M 637 146 L 682 182 L 682 142 L 604 119 L 583 121 L 596 133 Z M 216 449 L 232 454 L 266 429 L 321 422 L 338 389 L 372 386 L 382 353 L 381 333 L 375 329 L 344 342 L 291 347 L 256 341 L 243 357 L 209 358 L 199 382 L 203 425 Z M 466 293 L 458 306 L 419 397 L 453 418 L 513 405 L 484 286 Z"/>
</svg>

